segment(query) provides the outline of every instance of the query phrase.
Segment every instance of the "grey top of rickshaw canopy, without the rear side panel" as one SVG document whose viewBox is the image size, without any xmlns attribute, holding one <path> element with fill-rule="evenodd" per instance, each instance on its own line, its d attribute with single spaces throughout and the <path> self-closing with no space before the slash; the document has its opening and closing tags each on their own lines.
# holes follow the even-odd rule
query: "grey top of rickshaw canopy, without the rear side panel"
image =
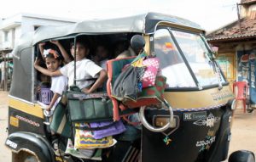
<svg viewBox="0 0 256 162">
<path fill-rule="evenodd" d="M 122 32 L 150 34 L 154 33 L 155 26 L 163 21 L 203 31 L 200 25 L 189 20 L 166 14 L 147 13 L 109 20 L 84 20 L 73 25 L 42 26 L 35 32 L 32 44 L 53 38 L 72 37 L 83 33 L 88 35 Z"/>
</svg>

